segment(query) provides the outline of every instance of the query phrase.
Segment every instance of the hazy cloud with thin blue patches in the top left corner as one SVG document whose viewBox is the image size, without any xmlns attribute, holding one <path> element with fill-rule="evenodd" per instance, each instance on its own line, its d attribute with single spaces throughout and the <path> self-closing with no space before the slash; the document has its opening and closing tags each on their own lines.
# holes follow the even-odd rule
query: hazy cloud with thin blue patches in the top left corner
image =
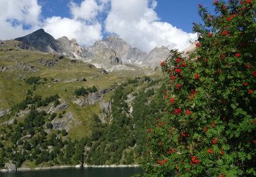
<svg viewBox="0 0 256 177">
<path fill-rule="evenodd" d="M 40 22 L 40 14 L 41 6 L 36 0 L 0 0 L 0 39 L 31 33 Z"/>
</svg>

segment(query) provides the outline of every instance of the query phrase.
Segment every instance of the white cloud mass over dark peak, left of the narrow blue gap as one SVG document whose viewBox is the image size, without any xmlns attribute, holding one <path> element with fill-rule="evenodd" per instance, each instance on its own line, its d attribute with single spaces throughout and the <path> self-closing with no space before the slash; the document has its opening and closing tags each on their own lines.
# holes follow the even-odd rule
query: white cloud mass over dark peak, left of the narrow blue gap
<svg viewBox="0 0 256 177">
<path fill-rule="evenodd" d="M 41 18 L 37 0 L 0 0 L 0 39 L 13 39 L 43 28 L 55 39 L 67 36 L 76 38 L 81 45 L 93 44 L 102 39 L 102 25 L 96 20 L 106 0 L 96 3 L 84 0 L 81 4 L 70 2 L 72 18 L 52 16 Z"/>
</svg>

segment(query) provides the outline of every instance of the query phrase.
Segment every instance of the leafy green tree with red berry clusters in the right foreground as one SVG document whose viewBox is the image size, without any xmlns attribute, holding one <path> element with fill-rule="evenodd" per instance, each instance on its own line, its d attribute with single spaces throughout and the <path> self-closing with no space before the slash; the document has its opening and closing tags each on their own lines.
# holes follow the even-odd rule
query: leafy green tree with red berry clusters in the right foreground
<svg viewBox="0 0 256 177">
<path fill-rule="evenodd" d="M 166 114 L 148 131 L 148 174 L 256 175 L 255 1 L 199 5 L 204 25 L 188 59 L 177 50 L 161 63 L 169 74 Z"/>
</svg>

